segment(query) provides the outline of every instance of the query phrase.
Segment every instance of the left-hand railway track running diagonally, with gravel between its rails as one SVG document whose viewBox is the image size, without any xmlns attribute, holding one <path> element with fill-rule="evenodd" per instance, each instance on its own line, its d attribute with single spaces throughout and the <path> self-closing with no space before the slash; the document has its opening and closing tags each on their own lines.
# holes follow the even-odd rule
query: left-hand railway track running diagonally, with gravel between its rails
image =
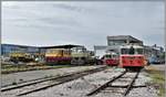
<svg viewBox="0 0 166 97">
<path fill-rule="evenodd" d="M 43 89 L 46 89 L 46 88 L 50 88 L 50 87 L 53 87 L 53 86 L 56 86 L 56 85 L 60 85 L 63 83 L 68 83 L 68 82 L 77 79 L 77 78 L 83 77 L 89 74 L 104 71 L 105 68 L 106 68 L 106 66 L 102 66 L 102 67 L 87 69 L 87 71 L 83 71 L 83 72 L 77 72 L 77 73 L 73 73 L 73 74 L 66 74 L 66 75 L 59 76 L 59 77 L 50 77 L 50 78 L 45 78 L 45 79 L 34 80 L 31 83 L 20 84 L 17 86 L 4 87 L 4 88 L 1 88 L 1 93 L 3 93 L 4 95 L 8 95 L 10 93 L 13 94 L 13 91 L 14 91 L 15 96 L 23 96 L 23 95 L 43 90 Z"/>
</svg>

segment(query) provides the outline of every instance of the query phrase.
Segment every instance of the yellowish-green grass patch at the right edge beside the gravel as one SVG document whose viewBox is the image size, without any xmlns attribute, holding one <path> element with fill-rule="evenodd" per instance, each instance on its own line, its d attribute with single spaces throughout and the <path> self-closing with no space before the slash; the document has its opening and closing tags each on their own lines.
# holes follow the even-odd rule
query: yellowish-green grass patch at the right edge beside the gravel
<svg viewBox="0 0 166 97">
<path fill-rule="evenodd" d="M 147 69 L 149 77 L 152 78 L 152 85 L 158 89 L 158 97 L 164 97 L 165 95 L 165 72 L 156 69 Z"/>
</svg>

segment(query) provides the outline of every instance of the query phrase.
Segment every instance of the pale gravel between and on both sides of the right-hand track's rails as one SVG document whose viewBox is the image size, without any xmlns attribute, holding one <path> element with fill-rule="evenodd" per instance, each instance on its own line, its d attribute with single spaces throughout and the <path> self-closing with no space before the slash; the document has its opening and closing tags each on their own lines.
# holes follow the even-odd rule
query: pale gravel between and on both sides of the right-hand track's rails
<svg viewBox="0 0 166 97">
<path fill-rule="evenodd" d="M 62 85 L 48 88 L 45 90 L 32 93 L 32 94 L 21 96 L 21 97 L 87 97 L 85 96 L 86 94 L 89 94 L 91 90 L 95 89 L 100 85 L 104 84 L 110 78 L 117 76 L 123 71 L 124 69 L 110 68 L 103 72 L 98 72 L 92 75 L 84 76 L 82 78 L 79 78 L 79 79 L 62 84 Z M 131 76 L 133 77 L 134 74 L 135 73 L 128 73 L 127 75 L 124 76 L 124 78 L 131 77 Z M 138 78 L 135 82 L 136 86 L 145 85 L 151 79 L 146 77 L 145 75 L 146 74 L 144 72 L 139 74 Z M 128 79 L 129 78 L 126 78 L 126 80 Z M 118 82 L 121 82 L 121 79 Z M 126 84 L 126 83 L 123 82 L 121 83 L 121 85 L 122 84 Z M 114 88 L 114 90 L 116 88 Z M 124 89 L 118 88 L 116 90 L 118 90 L 120 94 L 117 94 L 117 91 L 113 93 L 106 89 L 91 97 L 122 97 L 121 93 L 123 93 Z M 11 97 L 11 96 L 3 95 L 2 97 Z M 156 95 L 156 90 L 153 87 L 147 86 L 147 87 L 133 88 L 127 95 L 127 97 L 157 97 L 157 95 Z"/>
</svg>

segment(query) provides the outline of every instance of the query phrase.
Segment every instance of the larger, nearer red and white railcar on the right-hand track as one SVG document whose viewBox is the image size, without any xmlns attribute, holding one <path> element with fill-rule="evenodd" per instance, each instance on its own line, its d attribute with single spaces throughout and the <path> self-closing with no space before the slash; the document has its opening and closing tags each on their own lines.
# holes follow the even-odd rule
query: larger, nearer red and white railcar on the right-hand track
<svg viewBox="0 0 166 97">
<path fill-rule="evenodd" d="M 142 68 L 145 66 L 144 47 L 139 45 L 121 46 L 120 66 L 123 68 Z"/>
</svg>

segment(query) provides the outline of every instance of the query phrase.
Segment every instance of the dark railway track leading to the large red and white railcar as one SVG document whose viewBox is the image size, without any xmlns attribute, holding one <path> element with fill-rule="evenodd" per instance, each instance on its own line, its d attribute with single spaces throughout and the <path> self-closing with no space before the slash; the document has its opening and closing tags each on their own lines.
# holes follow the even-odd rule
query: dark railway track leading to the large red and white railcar
<svg viewBox="0 0 166 97">
<path fill-rule="evenodd" d="M 143 86 L 134 86 L 134 83 L 136 80 L 136 78 L 138 77 L 141 71 L 137 71 L 134 75 L 134 77 L 132 77 L 132 79 L 127 80 L 128 84 L 127 85 L 113 85 L 113 83 L 118 82 L 118 79 L 123 78 L 124 75 L 127 75 L 127 71 L 123 72 L 122 74 L 120 74 L 118 76 L 113 77 L 112 79 L 110 79 L 108 82 L 104 83 L 103 85 L 101 85 L 100 87 L 93 89 L 91 93 L 86 94 L 86 96 L 92 96 L 94 94 L 101 93 L 106 90 L 106 88 L 125 88 L 125 90 L 123 90 L 122 96 L 125 97 L 127 96 L 127 94 L 129 93 L 129 90 L 134 87 L 145 87 Z M 126 80 L 122 80 L 122 82 L 126 82 Z M 108 89 L 110 91 L 112 91 L 111 89 Z M 117 91 L 118 93 L 118 91 Z"/>
</svg>

